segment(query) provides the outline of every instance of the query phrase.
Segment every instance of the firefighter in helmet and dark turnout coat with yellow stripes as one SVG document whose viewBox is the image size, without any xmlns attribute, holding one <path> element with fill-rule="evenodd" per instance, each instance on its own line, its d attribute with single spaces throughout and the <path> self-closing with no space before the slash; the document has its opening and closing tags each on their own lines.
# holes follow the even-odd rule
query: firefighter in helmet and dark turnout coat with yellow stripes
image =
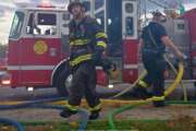
<svg viewBox="0 0 196 131">
<path fill-rule="evenodd" d="M 101 66 L 102 53 L 107 47 L 107 36 L 97 21 L 85 15 L 82 2 L 71 2 L 68 7 L 73 15 L 70 22 L 70 66 L 73 74 L 69 104 L 61 117 L 68 118 L 78 110 L 83 95 L 89 106 L 89 119 L 97 119 L 101 110 L 96 94 L 96 66 Z"/>
</svg>

